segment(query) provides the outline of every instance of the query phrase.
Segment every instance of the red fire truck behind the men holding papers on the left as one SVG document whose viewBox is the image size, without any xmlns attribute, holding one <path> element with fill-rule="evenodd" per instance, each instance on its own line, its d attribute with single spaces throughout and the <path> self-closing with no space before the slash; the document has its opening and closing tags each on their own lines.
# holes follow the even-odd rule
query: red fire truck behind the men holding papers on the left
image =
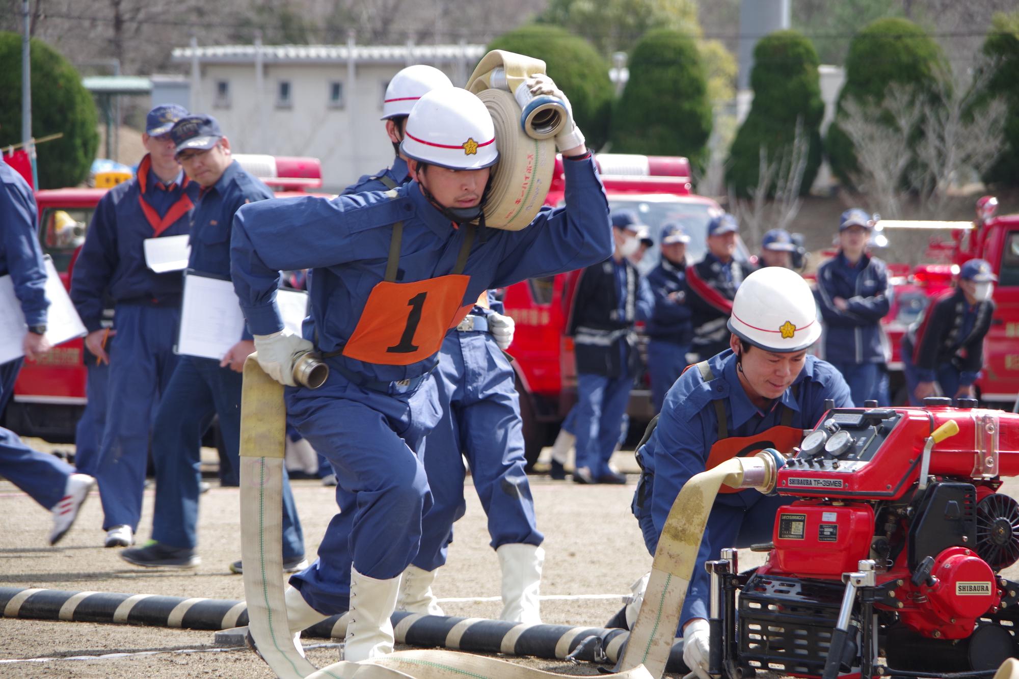
<svg viewBox="0 0 1019 679">
<path fill-rule="evenodd" d="M 322 186 L 322 169 L 317 158 L 234 154 L 253 174 L 262 178 L 277 197 L 306 195 Z M 98 182 L 97 184 L 102 184 Z M 108 182 L 115 186 L 115 182 Z M 85 243 L 85 234 L 103 189 L 52 189 L 36 192 L 39 206 L 39 240 L 65 288 L 70 288 L 68 265 L 74 251 Z M 69 443 L 85 408 L 86 370 L 83 341 L 72 340 L 35 361 L 26 360 L 6 412 L 0 413 L 4 426 L 25 436 Z"/>
</svg>

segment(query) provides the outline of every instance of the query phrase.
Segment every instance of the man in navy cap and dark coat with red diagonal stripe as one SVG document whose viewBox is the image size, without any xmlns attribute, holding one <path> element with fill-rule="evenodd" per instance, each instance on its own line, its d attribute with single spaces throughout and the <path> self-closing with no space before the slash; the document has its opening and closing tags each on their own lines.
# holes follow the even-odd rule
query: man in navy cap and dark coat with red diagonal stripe
<svg viewBox="0 0 1019 679">
<path fill-rule="evenodd" d="M 734 257 L 738 231 L 733 215 L 712 217 L 707 225 L 704 259 L 687 267 L 686 302 L 693 324 L 691 351 L 699 361 L 729 347 L 726 323 L 733 313 L 736 290 L 750 275 L 750 266 Z"/>
</svg>

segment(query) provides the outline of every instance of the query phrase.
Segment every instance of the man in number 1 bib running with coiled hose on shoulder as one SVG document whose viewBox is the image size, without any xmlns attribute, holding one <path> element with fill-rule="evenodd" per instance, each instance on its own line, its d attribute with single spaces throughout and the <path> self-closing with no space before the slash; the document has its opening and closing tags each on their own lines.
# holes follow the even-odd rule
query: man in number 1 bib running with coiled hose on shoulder
<svg viewBox="0 0 1019 679">
<path fill-rule="evenodd" d="M 455 88 L 424 95 L 408 117 L 400 148 L 409 184 L 332 200 L 256 203 L 234 219 L 232 277 L 258 362 L 289 385 L 287 416 L 329 459 L 339 483 L 340 513 L 318 559 L 285 593 L 290 632 L 348 610 L 348 661 L 392 650 L 389 618 L 400 575 L 418 554 L 422 516 L 432 505 L 422 458 L 441 415 L 432 370 L 445 333 L 486 290 L 611 252 L 604 188 L 566 97 L 544 75 L 525 80 L 530 94 L 566 105 L 554 141 L 567 195 L 566 207 L 536 207 L 524 228 L 486 225 L 494 222 L 483 201 L 492 167 L 499 164 L 495 196 L 503 170 L 519 159 L 500 156 L 513 144 L 507 137 L 496 144 L 499 113 L 486 108 L 486 94 Z M 519 108 L 515 116 L 519 132 Z M 282 329 L 275 304 L 278 270 L 303 268 L 313 269 L 314 280 L 304 338 Z M 317 390 L 296 386 L 292 377 L 296 360 L 311 350 L 329 367 Z"/>
</svg>

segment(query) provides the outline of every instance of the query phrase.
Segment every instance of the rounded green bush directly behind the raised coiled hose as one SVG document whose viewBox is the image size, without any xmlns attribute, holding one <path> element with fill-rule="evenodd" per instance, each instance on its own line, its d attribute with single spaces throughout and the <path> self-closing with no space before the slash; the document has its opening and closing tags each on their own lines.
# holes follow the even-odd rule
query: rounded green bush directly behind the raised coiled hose
<svg viewBox="0 0 1019 679">
<path fill-rule="evenodd" d="M 614 93 L 608 65 L 589 42 L 557 27 L 524 25 L 499 36 L 487 49 L 543 59 L 549 77 L 570 98 L 587 145 L 594 150 L 604 145 Z"/>
</svg>

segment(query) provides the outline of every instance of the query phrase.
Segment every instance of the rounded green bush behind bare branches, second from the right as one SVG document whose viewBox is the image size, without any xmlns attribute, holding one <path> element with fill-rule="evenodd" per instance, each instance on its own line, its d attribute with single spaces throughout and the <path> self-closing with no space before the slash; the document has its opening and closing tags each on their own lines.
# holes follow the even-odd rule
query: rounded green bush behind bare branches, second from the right
<svg viewBox="0 0 1019 679">
<path fill-rule="evenodd" d="M 853 38 L 846 57 L 846 85 L 839 95 L 836 119 L 824 140 L 832 171 L 844 186 L 853 186 L 851 177 L 858 168 L 853 143 L 839 126 L 846 100 L 853 98 L 865 109 L 876 110 L 890 85 L 915 87 L 923 96 L 945 71 L 941 46 L 908 19 L 877 19 Z"/>
</svg>

